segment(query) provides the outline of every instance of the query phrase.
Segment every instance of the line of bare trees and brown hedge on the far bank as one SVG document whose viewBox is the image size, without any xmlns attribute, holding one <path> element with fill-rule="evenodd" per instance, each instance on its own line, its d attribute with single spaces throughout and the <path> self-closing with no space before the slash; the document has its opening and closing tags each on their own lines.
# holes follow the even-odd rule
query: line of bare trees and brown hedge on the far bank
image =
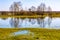
<svg viewBox="0 0 60 40">
<path fill-rule="evenodd" d="M 51 7 L 46 7 L 44 3 L 41 3 L 37 8 L 32 6 L 27 11 L 23 10 L 21 2 L 13 2 L 9 7 L 13 15 L 40 15 L 45 11 L 52 11 Z"/>
</svg>

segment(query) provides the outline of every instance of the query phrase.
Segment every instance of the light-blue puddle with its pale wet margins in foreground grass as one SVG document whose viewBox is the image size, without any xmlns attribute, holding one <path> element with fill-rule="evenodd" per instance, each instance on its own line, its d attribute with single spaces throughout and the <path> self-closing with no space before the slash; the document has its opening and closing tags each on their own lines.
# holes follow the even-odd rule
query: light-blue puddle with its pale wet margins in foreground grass
<svg viewBox="0 0 60 40">
<path fill-rule="evenodd" d="M 17 35 L 30 35 L 33 37 L 34 33 L 30 32 L 28 30 L 20 30 L 20 31 L 13 32 L 13 33 L 9 34 L 9 36 L 17 36 Z"/>
</svg>

